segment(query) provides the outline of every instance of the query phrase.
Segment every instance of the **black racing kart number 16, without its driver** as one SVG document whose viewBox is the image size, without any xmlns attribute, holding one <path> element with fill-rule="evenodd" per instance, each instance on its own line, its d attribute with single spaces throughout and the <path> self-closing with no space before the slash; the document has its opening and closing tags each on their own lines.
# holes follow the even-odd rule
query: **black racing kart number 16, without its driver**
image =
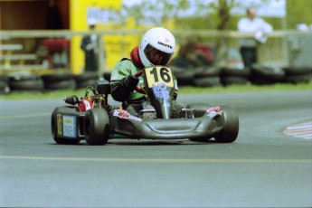
<svg viewBox="0 0 312 208">
<path fill-rule="evenodd" d="M 109 81 L 96 80 L 94 87 L 87 87 L 83 98 L 66 97 L 65 103 L 70 106 L 53 110 L 51 127 L 55 142 L 78 144 L 85 139 L 89 145 L 105 145 L 111 138 L 124 137 L 194 141 L 214 138 L 219 143 L 231 143 L 238 137 L 238 114 L 227 106 L 188 104 L 173 118 L 175 83 L 170 68 L 149 67 L 135 76 L 143 76 L 144 84 L 135 90 L 146 94 L 145 104 L 153 108 L 145 109 L 142 104 L 133 114 L 120 106 L 111 106 Z"/>
</svg>

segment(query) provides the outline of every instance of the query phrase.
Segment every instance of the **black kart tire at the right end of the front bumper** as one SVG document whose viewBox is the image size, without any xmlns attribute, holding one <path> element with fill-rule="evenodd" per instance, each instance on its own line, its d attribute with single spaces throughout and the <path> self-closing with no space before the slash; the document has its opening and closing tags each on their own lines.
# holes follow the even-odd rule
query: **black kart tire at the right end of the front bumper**
<svg viewBox="0 0 312 208">
<path fill-rule="evenodd" d="M 230 107 L 222 107 L 222 131 L 214 137 L 219 143 L 232 143 L 239 134 L 239 117 Z"/>
</svg>

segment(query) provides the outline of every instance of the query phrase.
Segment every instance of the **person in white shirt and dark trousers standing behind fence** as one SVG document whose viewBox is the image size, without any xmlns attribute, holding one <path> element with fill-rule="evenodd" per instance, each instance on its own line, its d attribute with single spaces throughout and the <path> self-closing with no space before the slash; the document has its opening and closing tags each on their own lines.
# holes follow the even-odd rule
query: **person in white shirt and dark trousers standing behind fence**
<svg viewBox="0 0 312 208">
<path fill-rule="evenodd" d="M 247 8 L 246 15 L 246 17 L 239 20 L 237 27 L 241 33 L 254 34 L 254 37 L 240 40 L 242 61 L 245 67 L 250 67 L 258 61 L 257 45 L 266 43 L 268 34 L 273 31 L 273 27 L 262 18 L 257 17 L 256 10 L 253 7 Z"/>
</svg>

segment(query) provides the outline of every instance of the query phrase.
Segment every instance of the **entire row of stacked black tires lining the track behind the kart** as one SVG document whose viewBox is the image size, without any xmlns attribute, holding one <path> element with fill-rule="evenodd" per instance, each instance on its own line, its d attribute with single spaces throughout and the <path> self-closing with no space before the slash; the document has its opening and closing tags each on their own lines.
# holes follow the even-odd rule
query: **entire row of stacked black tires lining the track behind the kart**
<svg viewBox="0 0 312 208">
<path fill-rule="evenodd" d="M 195 69 L 184 69 L 171 66 L 178 86 L 201 88 L 230 85 L 271 85 L 276 83 L 308 82 L 312 80 L 312 67 L 269 67 L 254 64 L 251 68 L 201 66 Z M 102 74 L 110 80 L 110 71 Z M 14 74 L 0 75 L 0 95 L 10 91 L 44 91 L 44 90 L 77 90 L 94 86 L 99 80 L 98 72 L 86 72 L 80 75 L 71 73 Z"/>
</svg>

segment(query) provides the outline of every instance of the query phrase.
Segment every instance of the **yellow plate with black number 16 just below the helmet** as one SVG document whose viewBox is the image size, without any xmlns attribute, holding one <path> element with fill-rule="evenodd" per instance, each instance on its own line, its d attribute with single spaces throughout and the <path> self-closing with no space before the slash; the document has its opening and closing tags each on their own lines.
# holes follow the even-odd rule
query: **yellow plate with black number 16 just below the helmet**
<svg viewBox="0 0 312 208">
<path fill-rule="evenodd" d="M 170 68 L 164 66 L 154 66 L 145 69 L 147 76 L 147 87 L 164 83 L 168 87 L 174 87 L 173 74 Z"/>
</svg>

